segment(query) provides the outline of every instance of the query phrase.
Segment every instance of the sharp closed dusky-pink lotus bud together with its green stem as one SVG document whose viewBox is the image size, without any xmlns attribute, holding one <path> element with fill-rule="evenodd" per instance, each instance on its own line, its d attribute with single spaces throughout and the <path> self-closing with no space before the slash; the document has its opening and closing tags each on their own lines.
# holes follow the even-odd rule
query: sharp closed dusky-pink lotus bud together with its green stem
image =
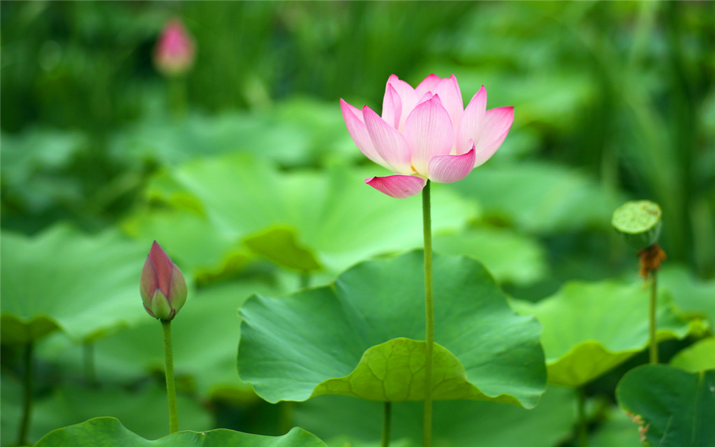
<svg viewBox="0 0 715 447">
<path fill-rule="evenodd" d="M 169 400 L 169 433 L 179 431 L 177 390 L 174 382 L 174 353 L 172 350 L 172 320 L 186 303 L 187 285 L 179 267 L 154 241 L 149 251 L 139 291 L 147 313 L 162 321 L 164 332 L 164 370 Z"/>
</svg>

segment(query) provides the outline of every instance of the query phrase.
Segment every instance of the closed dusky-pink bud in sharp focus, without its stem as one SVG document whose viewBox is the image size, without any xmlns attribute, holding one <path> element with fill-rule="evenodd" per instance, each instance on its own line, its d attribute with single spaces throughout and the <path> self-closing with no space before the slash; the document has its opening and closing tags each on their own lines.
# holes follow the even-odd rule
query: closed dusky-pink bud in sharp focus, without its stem
<svg viewBox="0 0 715 447">
<path fill-rule="evenodd" d="M 144 309 L 154 318 L 173 320 L 186 303 L 188 291 L 184 275 L 157 241 L 152 244 L 147 262 L 144 262 L 139 290 Z"/>
</svg>

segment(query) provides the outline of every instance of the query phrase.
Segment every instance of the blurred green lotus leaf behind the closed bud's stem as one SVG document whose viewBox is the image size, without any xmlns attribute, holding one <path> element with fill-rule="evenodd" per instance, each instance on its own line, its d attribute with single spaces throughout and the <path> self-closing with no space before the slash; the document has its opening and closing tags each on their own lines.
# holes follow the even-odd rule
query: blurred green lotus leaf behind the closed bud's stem
<svg viewBox="0 0 715 447">
<path fill-rule="evenodd" d="M 258 281 L 225 282 L 199 288 L 172 320 L 174 371 L 204 398 L 255 398 L 250 385 L 236 374 L 236 345 L 240 338 L 237 309 L 252 293 L 273 293 Z M 162 328 L 144 315 L 143 324 L 94 343 L 97 376 L 103 382 L 139 380 L 149 372 L 162 373 Z M 62 340 L 40 347 L 46 361 L 61 365 L 65 374 L 81 376 L 82 348 Z"/>
</svg>

